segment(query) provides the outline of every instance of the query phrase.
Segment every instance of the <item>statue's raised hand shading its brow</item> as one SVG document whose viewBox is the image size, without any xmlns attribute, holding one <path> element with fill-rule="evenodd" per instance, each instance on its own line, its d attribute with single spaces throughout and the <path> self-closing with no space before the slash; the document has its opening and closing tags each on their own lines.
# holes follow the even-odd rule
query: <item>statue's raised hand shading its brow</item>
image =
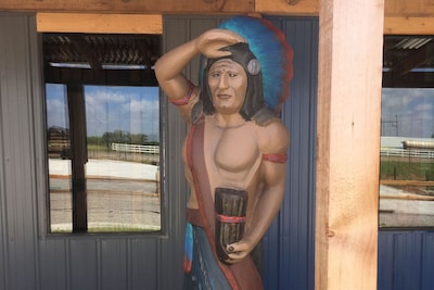
<svg viewBox="0 0 434 290">
<path fill-rule="evenodd" d="M 229 55 L 229 51 L 221 51 L 220 49 L 238 42 L 246 41 L 243 37 L 233 31 L 216 28 L 202 34 L 196 39 L 196 47 L 205 56 L 215 59 Z"/>
</svg>

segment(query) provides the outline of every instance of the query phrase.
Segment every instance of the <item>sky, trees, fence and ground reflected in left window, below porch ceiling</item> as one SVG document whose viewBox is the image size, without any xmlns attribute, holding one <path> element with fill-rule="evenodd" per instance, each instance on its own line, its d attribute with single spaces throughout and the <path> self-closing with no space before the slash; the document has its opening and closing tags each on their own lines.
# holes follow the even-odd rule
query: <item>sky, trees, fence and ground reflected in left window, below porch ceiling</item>
<svg viewBox="0 0 434 290">
<path fill-rule="evenodd" d="M 73 229 L 74 176 L 65 85 L 47 85 L 51 230 Z M 157 87 L 85 87 L 88 231 L 159 230 Z M 76 134 L 80 136 L 81 133 Z M 76 162 L 80 166 L 80 162 Z M 80 205 L 78 205 L 80 206 Z"/>
</svg>

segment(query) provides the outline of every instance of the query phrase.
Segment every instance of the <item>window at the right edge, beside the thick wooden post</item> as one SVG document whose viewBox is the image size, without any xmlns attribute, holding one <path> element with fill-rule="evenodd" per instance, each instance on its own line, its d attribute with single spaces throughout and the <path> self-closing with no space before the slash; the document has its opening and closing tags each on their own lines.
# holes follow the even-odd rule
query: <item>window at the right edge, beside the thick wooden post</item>
<svg viewBox="0 0 434 290">
<path fill-rule="evenodd" d="M 434 227 L 434 38 L 385 36 L 380 227 Z"/>
</svg>

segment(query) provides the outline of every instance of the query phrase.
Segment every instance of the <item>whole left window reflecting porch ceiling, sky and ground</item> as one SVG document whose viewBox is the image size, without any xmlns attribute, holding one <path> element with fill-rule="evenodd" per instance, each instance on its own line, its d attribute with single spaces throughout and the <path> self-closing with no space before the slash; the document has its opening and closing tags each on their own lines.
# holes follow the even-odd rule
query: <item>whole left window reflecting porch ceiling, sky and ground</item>
<svg viewBox="0 0 434 290">
<path fill-rule="evenodd" d="M 159 231 L 159 36 L 42 39 L 49 231 Z"/>
</svg>

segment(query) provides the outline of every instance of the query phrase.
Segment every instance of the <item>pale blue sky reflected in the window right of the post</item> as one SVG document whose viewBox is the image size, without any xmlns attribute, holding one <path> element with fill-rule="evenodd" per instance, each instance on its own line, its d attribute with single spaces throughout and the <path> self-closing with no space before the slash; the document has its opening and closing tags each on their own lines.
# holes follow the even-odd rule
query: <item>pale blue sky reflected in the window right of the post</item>
<svg viewBox="0 0 434 290">
<path fill-rule="evenodd" d="M 383 136 L 431 138 L 434 134 L 434 88 L 383 88 L 381 109 Z"/>
</svg>

